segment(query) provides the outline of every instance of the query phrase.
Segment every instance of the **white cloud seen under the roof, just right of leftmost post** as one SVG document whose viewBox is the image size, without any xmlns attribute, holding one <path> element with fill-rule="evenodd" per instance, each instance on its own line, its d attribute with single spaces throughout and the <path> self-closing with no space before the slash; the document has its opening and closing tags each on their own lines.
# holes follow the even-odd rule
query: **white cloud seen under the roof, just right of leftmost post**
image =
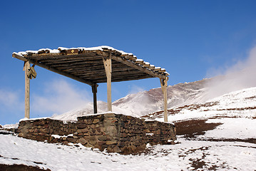
<svg viewBox="0 0 256 171">
<path fill-rule="evenodd" d="M 86 105 L 91 95 L 70 83 L 58 80 L 46 84 L 43 95 L 32 95 L 31 110 L 34 113 L 61 114 Z"/>
</svg>

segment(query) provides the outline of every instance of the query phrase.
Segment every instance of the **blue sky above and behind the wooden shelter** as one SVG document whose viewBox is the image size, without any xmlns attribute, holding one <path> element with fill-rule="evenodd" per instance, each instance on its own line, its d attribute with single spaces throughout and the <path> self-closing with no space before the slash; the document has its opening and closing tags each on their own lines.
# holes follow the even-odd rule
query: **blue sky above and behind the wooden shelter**
<svg viewBox="0 0 256 171">
<path fill-rule="evenodd" d="M 112 46 L 198 81 L 245 61 L 256 46 L 256 1 L 1 1 L 0 124 L 24 117 L 23 62 L 14 51 Z M 91 101 L 91 87 L 36 67 L 31 118 Z M 157 88 L 157 78 L 113 83 L 113 100 Z M 72 103 L 70 102 L 72 100 Z M 106 84 L 98 88 L 106 101 Z"/>
</svg>

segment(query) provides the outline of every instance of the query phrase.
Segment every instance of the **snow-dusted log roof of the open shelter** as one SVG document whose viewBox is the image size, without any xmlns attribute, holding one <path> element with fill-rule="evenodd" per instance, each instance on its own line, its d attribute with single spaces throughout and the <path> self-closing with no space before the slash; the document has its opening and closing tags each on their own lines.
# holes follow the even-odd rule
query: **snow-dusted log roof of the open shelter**
<svg viewBox="0 0 256 171">
<path fill-rule="evenodd" d="M 165 69 L 150 65 L 132 53 L 118 51 L 110 46 L 95 48 L 43 48 L 39 51 L 13 53 L 14 58 L 35 63 L 49 71 L 93 85 L 106 83 L 103 58 L 111 58 L 111 82 L 131 81 L 143 78 L 168 78 Z"/>
</svg>

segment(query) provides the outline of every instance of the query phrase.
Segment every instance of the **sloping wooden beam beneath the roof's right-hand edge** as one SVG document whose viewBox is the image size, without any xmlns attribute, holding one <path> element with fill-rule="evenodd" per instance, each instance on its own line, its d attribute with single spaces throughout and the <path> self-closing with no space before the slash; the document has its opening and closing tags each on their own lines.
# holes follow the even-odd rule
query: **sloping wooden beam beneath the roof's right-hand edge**
<svg viewBox="0 0 256 171">
<path fill-rule="evenodd" d="M 126 64 L 127 66 L 130 66 L 132 68 L 135 68 L 135 69 L 138 69 L 140 71 L 143 71 L 144 73 L 148 73 L 150 76 L 153 76 L 153 77 L 158 77 L 158 78 L 161 78 L 161 79 L 166 79 L 166 76 L 163 76 L 159 73 L 155 73 L 154 71 L 150 71 L 148 70 L 147 68 L 143 68 L 142 66 L 138 66 L 136 65 L 135 63 L 132 63 L 130 61 L 127 61 L 126 59 L 123 59 L 123 58 L 120 58 L 118 56 L 111 56 L 111 58 L 115 61 L 118 61 L 118 62 L 121 62 L 121 63 L 124 63 Z"/>
</svg>

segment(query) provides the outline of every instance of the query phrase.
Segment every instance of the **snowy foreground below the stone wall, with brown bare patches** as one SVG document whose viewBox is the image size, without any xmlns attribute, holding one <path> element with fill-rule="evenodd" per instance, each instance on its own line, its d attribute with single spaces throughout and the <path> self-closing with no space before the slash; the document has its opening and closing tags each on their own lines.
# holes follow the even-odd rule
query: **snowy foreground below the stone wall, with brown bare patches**
<svg viewBox="0 0 256 171">
<path fill-rule="evenodd" d="M 119 155 L 86 147 L 48 144 L 0 135 L 0 163 L 50 170 L 255 170 L 256 145 L 178 138 L 177 145 L 155 145 L 148 153 Z M 203 166 L 202 166 L 203 165 Z"/>
</svg>

